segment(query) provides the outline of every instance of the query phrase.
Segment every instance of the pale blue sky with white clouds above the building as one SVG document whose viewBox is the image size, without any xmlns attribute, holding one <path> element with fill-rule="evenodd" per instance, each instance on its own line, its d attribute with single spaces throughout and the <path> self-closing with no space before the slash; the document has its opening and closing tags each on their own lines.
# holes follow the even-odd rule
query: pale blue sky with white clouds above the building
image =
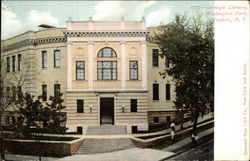
<svg viewBox="0 0 250 161">
<path fill-rule="evenodd" d="M 213 5 L 211 1 L 1 1 L 1 40 L 38 30 L 38 25 L 65 27 L 69 17 L 73 21 L 140 21 L 146 25 L 167 24 L 176 14 L 197 12 L 192 6 Z"/>
</svg>

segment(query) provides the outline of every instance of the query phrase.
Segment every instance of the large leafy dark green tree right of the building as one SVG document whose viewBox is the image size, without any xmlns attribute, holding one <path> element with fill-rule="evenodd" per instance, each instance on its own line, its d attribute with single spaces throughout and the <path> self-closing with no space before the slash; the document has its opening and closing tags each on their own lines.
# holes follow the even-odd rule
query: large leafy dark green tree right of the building
<svg viewBox="0 0 250 161">
<path fill-rule="evenodd" d="M 193 135 L 197 120 L 214 111 L 214 28 L 211 20 L 203 17 L 188 19 L 186 15 L 162 26 L 152 37 L 170 66 L 160 73 L 169 75 L 176 89 L 175 107 L 190 111 Z"/>
</svg>

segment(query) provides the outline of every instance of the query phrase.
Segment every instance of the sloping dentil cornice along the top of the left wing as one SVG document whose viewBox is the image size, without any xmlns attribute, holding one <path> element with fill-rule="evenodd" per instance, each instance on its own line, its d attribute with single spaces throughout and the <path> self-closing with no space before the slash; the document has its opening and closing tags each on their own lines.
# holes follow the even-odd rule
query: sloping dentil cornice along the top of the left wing
<svg viewBox="0 0 250 161">
<path fill-rule="evenodd" d="M 9 50 L 14 50 L 26 46 L 37 46 L 42 44 L 50 44 L 50 43 L 62 43 L 66 42 L 67 39 L 64 36 L 58 37 L 46 37 L 46 38 L 39 38 L 39 39 L 25 39 L 13 44 L 9 44 L 2 47 L 2 52 L 6 52 Z"/>
</svg>

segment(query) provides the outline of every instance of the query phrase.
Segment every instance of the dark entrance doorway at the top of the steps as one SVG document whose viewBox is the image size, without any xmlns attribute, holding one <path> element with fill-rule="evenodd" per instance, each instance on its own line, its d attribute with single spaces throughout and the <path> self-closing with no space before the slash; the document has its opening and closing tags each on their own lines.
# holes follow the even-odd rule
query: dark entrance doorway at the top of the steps
<svg viewBox="0 0 250 161">
<path fill-rule="evenodd" d="M 100 98 L 100 124 L 114 125 L 114 98 Z"/>
</svg>

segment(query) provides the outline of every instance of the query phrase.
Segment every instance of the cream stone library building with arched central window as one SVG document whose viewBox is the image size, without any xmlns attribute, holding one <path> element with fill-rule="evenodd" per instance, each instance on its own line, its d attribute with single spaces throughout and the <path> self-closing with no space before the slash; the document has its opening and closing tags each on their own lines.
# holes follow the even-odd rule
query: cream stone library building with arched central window
<svg viewBox="0 0 250 161">
<path fill-rule="evenodd" d="M 23 91 L 37 96 L 46 86 L 48 97 L 60 85 L 69 131 L 86 133 L 88 126 L 102 124 L 105 108 L 109 108 L 112 124 L 126 125 L 131 133 L 132 127 L 147 130 L 148 124 L 175 117 L 174 84 L 159 75 L 165 60 L 153 55 L 157 46 L 147 42 L 157 29 L 146 28 L 145 20 L 69 20 L 66 28 L 28 31 L 3 40 L 1 52 L 4 61 L 9 57 L 11 67 L 12 56 L 22 55 L 27 69 Z M 10 69 L 7 74 L 13 73 L 20 71 Z M 153 84 L 158 84 L 158 91 Z M 105 99 L 111 100 L 110 107 L 101 103 Z"/>
</svg>

